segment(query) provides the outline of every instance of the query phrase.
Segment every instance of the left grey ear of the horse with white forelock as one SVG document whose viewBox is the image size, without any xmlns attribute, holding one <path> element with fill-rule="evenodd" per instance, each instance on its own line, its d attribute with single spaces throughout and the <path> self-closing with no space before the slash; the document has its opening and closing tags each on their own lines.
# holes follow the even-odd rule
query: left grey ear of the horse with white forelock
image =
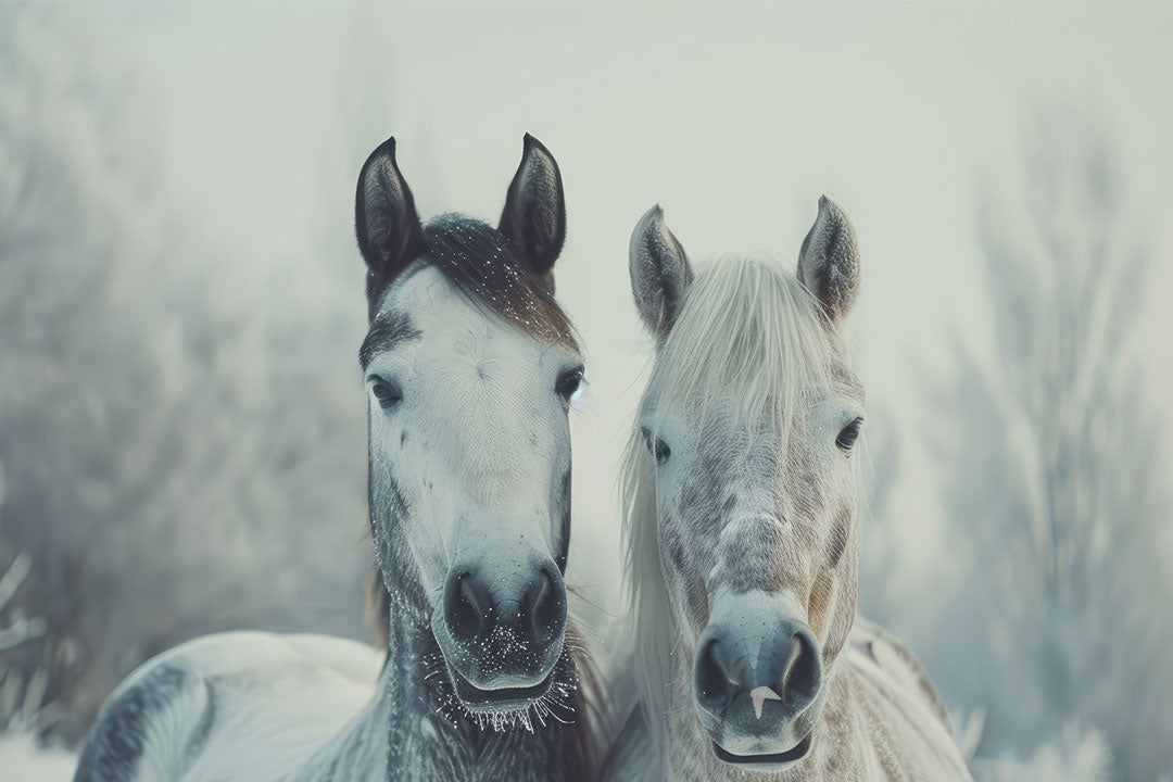
<svg viewBox="0 0 1173 782">
<path fill-rule="evenodd" d="M 664 223 L 656 204 L 639 218 L 628 251 L 631 293 L 644 326 L 658 340 L 672 331 L 684 293 L 692 283 L 692 266 L 684 247 Z"/>
</svg>

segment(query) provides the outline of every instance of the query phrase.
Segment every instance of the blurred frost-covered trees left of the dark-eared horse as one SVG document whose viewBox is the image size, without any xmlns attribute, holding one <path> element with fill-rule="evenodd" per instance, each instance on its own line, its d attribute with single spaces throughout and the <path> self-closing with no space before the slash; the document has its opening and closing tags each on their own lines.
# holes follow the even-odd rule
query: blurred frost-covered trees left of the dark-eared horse
<svg viewBox="0 0 1173 782">
<path fill-rule="evenodd" d="M 135 80 L 57 30 L 0 6 L 0 627 L 45 623 L 0 662 L 75 740 L 191 635 L 359 634 L 369 550 L 358 261 L 210 246 Z"/>
</svg>

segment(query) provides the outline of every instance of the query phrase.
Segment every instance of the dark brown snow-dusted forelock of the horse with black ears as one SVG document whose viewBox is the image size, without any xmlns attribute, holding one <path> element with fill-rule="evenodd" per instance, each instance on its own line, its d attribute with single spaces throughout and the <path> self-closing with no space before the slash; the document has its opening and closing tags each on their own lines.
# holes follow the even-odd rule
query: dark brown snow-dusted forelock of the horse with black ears
<svg viewBox="0 0 1173 782">
<path fill-rule="evenodd" d="M 574 326 L 554 299 L 552 279 L 535 274 L 513 242 L 489 224 L 459 213 L 441 215 L 423 226 L 418 257 L 443 272 L 469 300 L 507 322 L 535 339 L 578 352 Z M 379 280 L 368 291 L 372 318 L 394 280 Z"/>
</svg>

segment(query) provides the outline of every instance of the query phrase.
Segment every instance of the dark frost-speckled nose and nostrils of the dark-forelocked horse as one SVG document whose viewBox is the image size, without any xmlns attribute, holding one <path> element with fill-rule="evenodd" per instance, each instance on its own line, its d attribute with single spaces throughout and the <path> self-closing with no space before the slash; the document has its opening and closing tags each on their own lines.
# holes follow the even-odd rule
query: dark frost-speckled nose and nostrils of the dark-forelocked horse
<svg viewBox="0 0 1173 782">
<path fill-rule="evenodd" d="M 567 628 L 567 590 L 552 562 L 522 578 L 493 578 L 477 567 L 454 569 L 445 584 L 443 603 L 448 632 L 459 644 L 508 638 L 542 648 Z"/>
</svg>

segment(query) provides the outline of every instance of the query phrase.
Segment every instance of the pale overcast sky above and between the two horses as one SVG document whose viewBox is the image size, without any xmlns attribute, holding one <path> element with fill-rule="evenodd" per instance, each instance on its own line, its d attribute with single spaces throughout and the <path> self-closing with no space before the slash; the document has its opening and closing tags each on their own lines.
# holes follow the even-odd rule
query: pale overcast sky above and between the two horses
<svg viewBox="0 0 1173 782">
<path fill-rule="evenodd" d="M 558 292 L 592 383 L 575 423 L 572 580 L 599 599 L 617 583 L 606 498 L 649 348 L 628 237 L 655 202 L 694 259 L 767 250 L 786 264 L 820 193 L 848 209 L 863 249 L 857 366 L 875 409 L 910 433 L 896 506 L 930 524 L 936 468 L 916 436 L 923 369 L 947 376 L 951 334 L 989 345 L 979 186 L 1013 186 L 1033 108 L 1072 103 L 1113 136 L 1126 212 L 1153 253 L 1138 355 L 1154 400 L 1168 396 L 1167 5 L 91 4 L 57 14 L 150 90 L 161 175 L 237 258 L 313 252 L 353 266 L 355 333 L 340 351 L 361 339 L 348 234 L 371 149 L 396 136 L 425 216 L 494 219 L 522 134 L 550 148 L 570 218 Z"/>
</svg>

